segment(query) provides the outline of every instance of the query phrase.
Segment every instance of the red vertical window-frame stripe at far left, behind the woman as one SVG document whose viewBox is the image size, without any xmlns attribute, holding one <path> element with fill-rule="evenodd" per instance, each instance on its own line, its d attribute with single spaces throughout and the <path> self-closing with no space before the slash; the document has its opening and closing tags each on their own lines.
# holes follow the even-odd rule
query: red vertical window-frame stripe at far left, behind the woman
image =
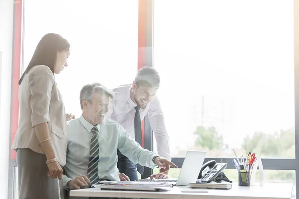
<svg viewBox="0 0 299 199">
<path fill-rule="evenodd" d="M 22 2 L 14 0 L 14 21 L 13 21 L 13 69 L 12 69 L 12 109 L 11 109 L 11 145 L 18 127 L 19 104 L 18 104 L 18 81 L 21 70 L 21 38 L 22 38 Z M 16 159 L 16 152 L 11 150 L 10 159 Z"/>
</svg>

